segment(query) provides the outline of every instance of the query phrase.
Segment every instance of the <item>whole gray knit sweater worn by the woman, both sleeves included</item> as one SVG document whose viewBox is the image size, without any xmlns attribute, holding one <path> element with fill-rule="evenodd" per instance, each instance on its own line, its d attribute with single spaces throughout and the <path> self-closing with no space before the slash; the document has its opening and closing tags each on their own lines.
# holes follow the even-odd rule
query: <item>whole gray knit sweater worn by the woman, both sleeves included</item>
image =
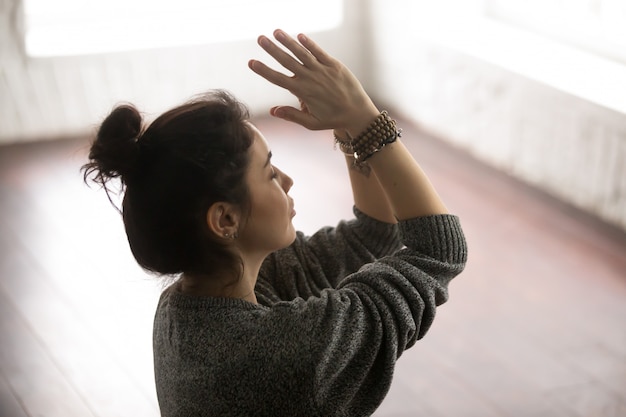
<svg viewBox="0 0 626 417">
<path fill-rule="evenodd" d="M 458 219 L 355 219 L 270 255 L 258 305 L 165 290 L 154 322 L 163 417 L 368 416 L 466 261 Z"/>
</svg>

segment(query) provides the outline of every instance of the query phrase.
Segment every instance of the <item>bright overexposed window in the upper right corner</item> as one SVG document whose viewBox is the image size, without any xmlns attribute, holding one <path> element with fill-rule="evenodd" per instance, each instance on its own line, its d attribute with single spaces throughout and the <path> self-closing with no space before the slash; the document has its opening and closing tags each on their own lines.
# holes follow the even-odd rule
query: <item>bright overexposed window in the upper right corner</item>
<svg viewBox="0 0 626 417">
<path fill-rule="evenodd" d="M 626 114 L 626 0 L 406 0 L 415 36 Z"/>
</svg>

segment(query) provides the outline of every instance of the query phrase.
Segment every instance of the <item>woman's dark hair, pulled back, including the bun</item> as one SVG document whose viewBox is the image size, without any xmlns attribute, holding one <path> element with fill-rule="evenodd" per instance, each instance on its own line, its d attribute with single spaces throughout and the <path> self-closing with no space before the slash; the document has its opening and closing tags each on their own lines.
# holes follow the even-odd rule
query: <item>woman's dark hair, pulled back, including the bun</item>
<svg viewBox="0 0 626 417">
<path fill-rule="evenodd" d="M 203 274 L 241 260 L 213 236 L 208 208 L 224 201 L 249 213 L 244 180 L 252 133 L 245 105 L 216 90 L 158 117 L 145 131 L 132 105 L 116 107 L 100 126 L 82 169 L 101 184 L 121 179 L 122 215 L 131 251 L 144 269 Z"/>
</svg>

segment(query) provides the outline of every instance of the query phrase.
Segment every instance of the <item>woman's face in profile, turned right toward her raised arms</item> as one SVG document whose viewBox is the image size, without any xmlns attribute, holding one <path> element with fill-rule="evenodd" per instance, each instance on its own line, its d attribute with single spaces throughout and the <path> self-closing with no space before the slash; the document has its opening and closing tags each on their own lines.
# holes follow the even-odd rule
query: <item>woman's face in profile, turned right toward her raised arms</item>
<svg viewBox="0 0 626 417">
<path fill-rule="evenodd" d="M 246 182 L 250 192 L 250 214 L 239 230 L 242 249 L 262 256 L 289 246 L 296 237 L 291 222 L 296 215 L 287 192 L 293 180 L 272 165 L 269 146 L 261 132 L 248 125 L 253 134 Z"/>
</svg>

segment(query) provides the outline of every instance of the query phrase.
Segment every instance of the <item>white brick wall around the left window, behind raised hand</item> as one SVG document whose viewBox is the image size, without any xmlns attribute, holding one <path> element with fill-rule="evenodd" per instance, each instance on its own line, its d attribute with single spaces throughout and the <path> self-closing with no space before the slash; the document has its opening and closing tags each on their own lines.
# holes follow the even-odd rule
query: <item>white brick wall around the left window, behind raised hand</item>
<svg viewBox="0 0 626 417">
<path fill-rule="evenodd" d="M 22 0 L 0 0 L 0 143 L 84 134 L 116 103 L 132 102 L 150 115 L 212 88 L 230 90 L 253 113 L 292 102 L 288 93 L 281 95 L 277 87 L 248 69 L 249 58 L 267 61 L 254 39 L 202 47 L 30 58 L 22 46 L 21 8 Z M 358 0 L 346 0 L 344 24 L 314 35 L 366 77 L 359 71 L 365 68 L 360 62 L 360 38 L 351 36 L 367 21 L 361 14 Z M 268 28 L 266 34 L 271 35 L 273 29 Z"/>
</svg>

